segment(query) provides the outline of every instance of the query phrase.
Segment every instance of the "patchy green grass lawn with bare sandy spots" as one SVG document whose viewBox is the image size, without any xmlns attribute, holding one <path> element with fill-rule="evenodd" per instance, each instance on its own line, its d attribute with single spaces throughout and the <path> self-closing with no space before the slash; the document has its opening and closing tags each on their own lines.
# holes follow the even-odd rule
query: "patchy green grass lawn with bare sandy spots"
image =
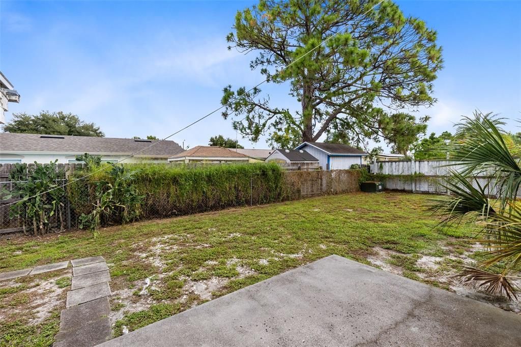
<svg viewBox="0 0 521 347">
<path fill-rule="evenodd" d="M 86 231 L 14 238 L 0 241 L 0 271 L 103 255 L 116 336 L 331 254 L 450 289 L 448 275 L 479 257 L 464 241 L 475 224 L 437 229 L 425 213 L 428 197 L 320 196 L 104 228 L 95 238 Z M 0 345 L 52 344 L 70 274 L 49 274 L 0 283 Z M 59 295 L 35 319 L 30 301 L 13 300 L 40 286 Z"/>
</svg>

